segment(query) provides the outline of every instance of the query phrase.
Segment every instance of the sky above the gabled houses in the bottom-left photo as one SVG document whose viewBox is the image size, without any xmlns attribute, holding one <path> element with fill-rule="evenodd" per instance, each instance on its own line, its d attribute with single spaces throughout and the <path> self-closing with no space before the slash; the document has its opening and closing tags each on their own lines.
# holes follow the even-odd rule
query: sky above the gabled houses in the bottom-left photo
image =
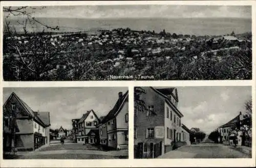
<svg viewBox="0 0 256 168">
<path fill-rule="evenodd" d="M 98 117 L 108 114 L 127 87 L 47 87 L 47 88 L 4 88 L 4 103 L 12 92 L 22 99 L 33 111 L 49 111 L 52 129 L 72 129 L 71 119 L 81 118 L 93 109 Z"/>
</svg>

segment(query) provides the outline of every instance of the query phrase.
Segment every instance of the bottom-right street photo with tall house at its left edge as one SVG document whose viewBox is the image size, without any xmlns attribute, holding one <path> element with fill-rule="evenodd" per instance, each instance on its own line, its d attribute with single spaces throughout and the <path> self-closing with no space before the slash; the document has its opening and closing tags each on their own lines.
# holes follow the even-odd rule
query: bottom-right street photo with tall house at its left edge
<svg viewBox="0 0 256 168">
<path fill-rule="evenodd" d="M 135 159 L 251 158 L 251 91 L 251 86 L 135 87 Z"/>
</svg>

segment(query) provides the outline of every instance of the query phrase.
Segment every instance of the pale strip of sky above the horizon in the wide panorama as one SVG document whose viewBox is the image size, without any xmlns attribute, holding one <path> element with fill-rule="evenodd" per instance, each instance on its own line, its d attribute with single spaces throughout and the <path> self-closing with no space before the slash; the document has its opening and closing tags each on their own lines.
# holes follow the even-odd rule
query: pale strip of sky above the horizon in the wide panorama
<svg viewBox="0 0 256 168">
<path fill-rule="evenodd" d="M 15 9 L 17 7 L 13 7 Z M 32 9 L 36 8 L 36 9 Z M 200 5 L 91 5 L 29 7 L 34 17 L 65 18 L 191 18 L 235 17 L 251 18 L 251 6 L 200 6 Z"/>
</svg>

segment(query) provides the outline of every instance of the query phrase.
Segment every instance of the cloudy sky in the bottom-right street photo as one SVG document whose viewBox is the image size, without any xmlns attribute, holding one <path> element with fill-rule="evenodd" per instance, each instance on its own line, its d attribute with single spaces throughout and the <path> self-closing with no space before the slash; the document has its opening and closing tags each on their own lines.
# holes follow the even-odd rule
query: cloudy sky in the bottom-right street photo
<svg viewBox="0 0 256 168">
<path fill-rule="evenodd" d="M 251 99 L 250 86 L 178 87 L 178 109 L 181 119 L 189 129 L 200 128 L 209 134 L 226 124 L 241 111 Z"/>
</svg>

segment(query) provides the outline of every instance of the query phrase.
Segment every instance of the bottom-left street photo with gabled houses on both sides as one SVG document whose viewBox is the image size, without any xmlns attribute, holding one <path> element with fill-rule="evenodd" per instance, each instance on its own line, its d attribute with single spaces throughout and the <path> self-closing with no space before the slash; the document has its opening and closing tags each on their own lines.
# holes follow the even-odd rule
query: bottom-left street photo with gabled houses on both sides
<svg viewBox="0 0 256 168">
<path fill-rule="evenodd" d="M 4 159 L 127 159 L 126 87 L 6 87 Z"/>
</svg>

